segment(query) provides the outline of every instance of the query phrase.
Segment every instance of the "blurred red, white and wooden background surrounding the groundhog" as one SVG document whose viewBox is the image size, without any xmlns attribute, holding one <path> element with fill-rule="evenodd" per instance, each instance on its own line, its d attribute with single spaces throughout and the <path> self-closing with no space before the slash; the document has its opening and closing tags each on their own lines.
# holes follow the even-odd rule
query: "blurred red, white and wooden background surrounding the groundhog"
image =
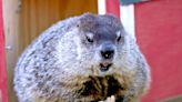
<svg viewBox="0 0 182 102">
<path fill-rule="evenodd" d="M 17 102 L 13 69 L 27 45 L 84 12 L 117 16 L 140 44 L 152 72 L 142 102 L 182 102 L 182 0 L 0 0 L 0 102 Z"/>
</svg>

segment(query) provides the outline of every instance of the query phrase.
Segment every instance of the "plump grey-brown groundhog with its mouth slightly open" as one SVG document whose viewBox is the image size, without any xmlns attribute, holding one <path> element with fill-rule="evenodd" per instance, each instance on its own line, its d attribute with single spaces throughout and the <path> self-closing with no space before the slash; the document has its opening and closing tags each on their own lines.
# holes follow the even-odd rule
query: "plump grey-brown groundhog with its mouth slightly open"
<svg viewBox="0 0 182 102">
<path fill-rule="evenodd" d="M 19 102 L 138 102 L 149 85 L 143 54 L 111 14 L 58 22 L 27 48 L 14 71 Z"/>
</svg>

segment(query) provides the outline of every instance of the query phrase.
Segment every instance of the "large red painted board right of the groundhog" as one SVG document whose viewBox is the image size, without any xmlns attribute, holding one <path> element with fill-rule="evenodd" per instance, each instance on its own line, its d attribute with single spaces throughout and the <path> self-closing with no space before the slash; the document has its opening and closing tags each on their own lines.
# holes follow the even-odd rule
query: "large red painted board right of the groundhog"
<svg viewBox="0 0 182 102">
<path fill-rule="evenodd" d="M 143 102 L 182 94 L 182 0 L 135 4 L 135 32 L 152 71 Z"/>
</svg>

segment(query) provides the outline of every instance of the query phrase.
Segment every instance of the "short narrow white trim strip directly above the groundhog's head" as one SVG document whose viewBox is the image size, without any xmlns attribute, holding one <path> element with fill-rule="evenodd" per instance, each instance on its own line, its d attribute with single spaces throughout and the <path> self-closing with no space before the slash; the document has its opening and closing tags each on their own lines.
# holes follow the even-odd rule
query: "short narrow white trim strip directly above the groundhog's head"
<svg viewBox="0 0 182 102">
<path fill-rule="evenodd" d="M 99 14 L 105 14 L 107 13 L 105 0 L 98 0 L 98 13 Z"/>
</svg>

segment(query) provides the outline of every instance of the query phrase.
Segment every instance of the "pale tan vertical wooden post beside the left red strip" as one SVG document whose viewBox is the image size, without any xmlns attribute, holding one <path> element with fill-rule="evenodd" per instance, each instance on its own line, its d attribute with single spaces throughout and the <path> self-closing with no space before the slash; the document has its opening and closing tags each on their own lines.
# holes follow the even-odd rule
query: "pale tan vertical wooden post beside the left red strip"
<svg viewBox="0 0 182 102">
<path fill-rule="evenodd" d="M 9 102 L 14 102 L 16 100 L 12 78 L 13 68 L 17 58 L 20 53 L 19 51 L 19 13 L 18 13 L 18 0 L 2 0 L 2 12 L 3 12 L 3 31 L 6 37 L 6 53 L 7 53 L 7 70 L 8 70 L 8 92 Z"/>
</svg>

